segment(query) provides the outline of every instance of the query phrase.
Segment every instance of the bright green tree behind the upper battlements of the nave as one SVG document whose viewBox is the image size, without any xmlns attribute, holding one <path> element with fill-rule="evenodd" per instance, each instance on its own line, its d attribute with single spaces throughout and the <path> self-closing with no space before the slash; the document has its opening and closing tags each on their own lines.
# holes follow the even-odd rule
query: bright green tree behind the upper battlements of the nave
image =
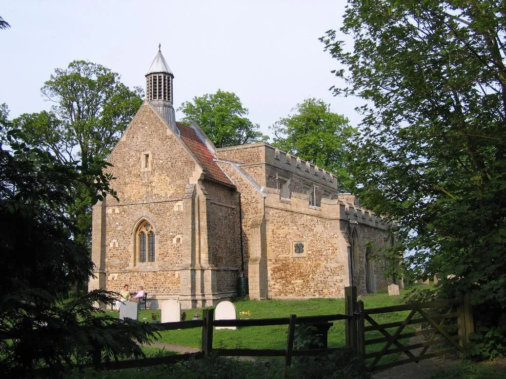
<svg viewBox="0 0 506 379">
<path fill-rule="evenodd" d="M 271 126 L 273 145 L 338 174 L 345 189 L 349 185 L 348 144 L 356 129 L 344 116 L 328 111 L 323 100 L 306 99 L 292 112 Z"/>
</svg>

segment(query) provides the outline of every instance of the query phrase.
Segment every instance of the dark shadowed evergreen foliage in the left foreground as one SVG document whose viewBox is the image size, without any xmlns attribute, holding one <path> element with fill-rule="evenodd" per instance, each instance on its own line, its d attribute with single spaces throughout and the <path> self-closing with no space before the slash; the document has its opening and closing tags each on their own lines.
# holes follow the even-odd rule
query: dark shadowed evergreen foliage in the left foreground
<svg viewBox="0 0 506 379">
<path fill-rule="evenodd" d="M 8 130 L 9 150 L 0 148 L 0 369 L 19 374 L 40 366 L 99 362 L 143 356 L 138 343 L 156 334 L 152 326 L 119 321 L 94 307 L 115 294 L 78 295 L 92 275 L 88 250 L 65 208 L 85 178 L 93 201 L 112 194 L 103 164 L 87 168 L 61 163 Z"/>
</svg>

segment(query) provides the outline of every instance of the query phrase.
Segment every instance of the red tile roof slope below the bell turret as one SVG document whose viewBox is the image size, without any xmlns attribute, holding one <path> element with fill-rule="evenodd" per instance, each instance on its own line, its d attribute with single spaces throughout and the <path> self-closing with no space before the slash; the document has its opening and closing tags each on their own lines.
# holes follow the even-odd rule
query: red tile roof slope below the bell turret
<svg viewBox="0 0 506 379">
<path fill-rule="evenodd" d="M 228 185 L 234 185 L 230 179 L 225 175 L 223 170 L 214 161 L 214 155 L 207 149 L 202 140 L 198 137 L 195 130 L 180 122 L 176 122 L 177 127 L 181 131 L 181 139 L 191 150 L 197 160 L 204 166 L 206 172 L 205 177 L 213 179 Z"/>
</svg>

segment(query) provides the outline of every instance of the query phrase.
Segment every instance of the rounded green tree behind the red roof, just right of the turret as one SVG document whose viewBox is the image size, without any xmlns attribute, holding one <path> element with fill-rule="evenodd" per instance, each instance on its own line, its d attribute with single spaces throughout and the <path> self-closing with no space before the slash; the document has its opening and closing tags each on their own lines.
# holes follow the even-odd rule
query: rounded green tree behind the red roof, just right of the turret
<svg viewBox="0 0 506 379">
<path fill-rule="evenodd" d="M 191 102 L 183 102 L 178 111 L 185 114 L 182 122 L 189 124 L 195 121 L 217 148 L 268 139 L 258 130 L 258 124 L 244 117 L 248 110 L 234 92 L 218 89 L 216 93 L 196 96 Z"/>
</svg>

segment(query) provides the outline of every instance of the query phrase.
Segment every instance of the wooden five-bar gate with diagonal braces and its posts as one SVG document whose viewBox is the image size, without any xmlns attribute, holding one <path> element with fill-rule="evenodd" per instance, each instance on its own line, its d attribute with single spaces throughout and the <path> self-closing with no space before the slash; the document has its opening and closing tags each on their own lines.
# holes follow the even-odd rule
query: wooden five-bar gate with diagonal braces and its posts
<svg viewBox="0 0 506 379">
<path fill-rule="evenodd" d="M 370 371 L 419 362 L 452 352 L 465 355 L 470 348 L 474 320 L 469 293 L 459 294 L 454 299 L 365 309 L 362 301 L 355 301 L 355 288 L 348 287 L 346 291 L 347 313 L 354 315 L 348 321 L 346 343 L 366 360 Z M 436 314 L 432 314 L 431 310 L 434 309 L 438 310 Z M 383 324 L 374 320 L 374 315 L 400 311 L 409 311 L 404 320 Z M 405 331 L 408 325 L 420 327 Z M 382 336 L 367 338 L 369 336 L 366 337 L 366 332 Z M 368 346 L 370 348 L 366 349 Z M 374 346 L 379 346 L 379 350 L 373 349 Z M 431 346 L 437 349 L 429 351 Z M 378 364 L 382 357 L 398 353 L 404 353 L 406 357 Z"/>
</svg>

